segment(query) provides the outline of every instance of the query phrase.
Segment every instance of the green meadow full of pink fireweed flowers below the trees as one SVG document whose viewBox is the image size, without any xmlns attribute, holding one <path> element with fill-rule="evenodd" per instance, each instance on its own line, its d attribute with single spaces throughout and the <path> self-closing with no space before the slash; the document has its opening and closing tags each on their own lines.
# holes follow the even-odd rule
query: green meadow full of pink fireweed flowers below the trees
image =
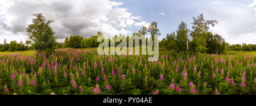
<svg viewBox="0 0 256 106">
<path fill-rule="evenodd" d="M 256 52 L 98 56 L 96 49 L 0 52 L 0 94 L 256 95 Z"/>
</svg>

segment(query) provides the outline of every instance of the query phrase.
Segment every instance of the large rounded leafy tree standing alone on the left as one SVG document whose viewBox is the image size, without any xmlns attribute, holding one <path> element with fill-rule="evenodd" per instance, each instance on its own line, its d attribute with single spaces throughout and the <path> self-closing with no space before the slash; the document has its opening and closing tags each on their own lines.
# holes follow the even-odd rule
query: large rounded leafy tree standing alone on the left
<svg viewBox="0 0 256 106">
<path fill-rule="evenodd" d="M 52 30 L 50 23 L 53 20 L 46 20 L 43 14 L 33 14 L 36 16 L 32 19 L 32 24 L 28 25 L 26 28 L 27 36 L 31 41 L 31 45 L 35 47 L 36 50 L 43 50 L 49 53 L 55 49 L 57 44 L 55 32 Z"/>
</svg>

